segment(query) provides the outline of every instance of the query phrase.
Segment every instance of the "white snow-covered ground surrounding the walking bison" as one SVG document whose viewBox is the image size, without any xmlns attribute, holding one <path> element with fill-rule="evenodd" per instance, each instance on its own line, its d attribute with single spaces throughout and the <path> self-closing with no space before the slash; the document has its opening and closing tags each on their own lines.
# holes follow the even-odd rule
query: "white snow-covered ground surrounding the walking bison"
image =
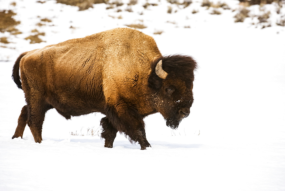
<svg viewBox="0 0 285 191">
<path fill-rule="evenodd" d="M 105 4 L 77 11 L 55 1 L 11 2 L 0 1 L 0 9 L 17 13 L 23 33 L 0 48 L 0 190 L 285 190 L 284 27 L 255 28 L 251 18 L 234 23 L 235 12 L 211 15 L 201 1 L 186 9 L 171 5 L 178 10 L 172 14 L 164 0 L 147 9 L 139 1 L 133 12 Z M 239 1 L 226 3 L 239 7 Z M 266 8 L 274 16 L 275 8 Z M 42 18 L 52 22 L 36 26 Z M 152 148 L 140 150 L 118 134 L 110 149 L 97 134 L 70 135 L 99 130 L 101 114 L 67 121 L 50 110 L 41 144 L 28 126 L 23 139 L 11 139 L 25 105 L 11 79 L 21 52 L 136 22 L 147 26 L 139 30 L 154 37 L 163 55 L 184 53 L 199 63 L 195 101 L 178 130 L 153 114 L 145 119 Z M 46 42 L 24 40 L 32 29 L 45 32 L 39 37 Z"/>
</svg>

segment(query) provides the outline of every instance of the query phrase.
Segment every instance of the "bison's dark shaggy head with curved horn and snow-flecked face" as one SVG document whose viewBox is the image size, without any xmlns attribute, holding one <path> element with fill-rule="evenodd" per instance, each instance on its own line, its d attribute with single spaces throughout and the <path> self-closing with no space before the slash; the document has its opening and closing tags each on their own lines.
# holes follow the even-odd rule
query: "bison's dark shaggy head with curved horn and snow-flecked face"
<svg viewBox="0 0 285 191">
<path fill-rule="evenodd" d="M 185 55 L 162 57 L 152 64 L 148 86 L 154 106 L 166 120 L 166 125 L 173 129 L 190 114 L 196 67 L 196 61 Z"/>
</svg>

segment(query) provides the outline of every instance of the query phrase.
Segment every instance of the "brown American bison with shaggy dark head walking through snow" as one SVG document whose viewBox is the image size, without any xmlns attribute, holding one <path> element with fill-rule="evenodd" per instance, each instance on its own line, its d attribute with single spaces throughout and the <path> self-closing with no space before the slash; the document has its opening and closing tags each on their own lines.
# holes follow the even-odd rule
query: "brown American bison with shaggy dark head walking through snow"
<svg viewBox="0 0 285 191">
<path fill-rule="evenodd" d="M 175 129 L 189 115 L 196 67 L 190 56 L 162 56 L 152 37 L 129 28 L 25 52 L 12 78 L 27 105 L 12 138 L 23 137 L 28 124 L 40 143 L 45 113 L 52 108 L 66 119 L 101 112 L 105 147 L 113 147 L 119 131 L 144 150 L 150 147 L 146 116 L 160 112 Z"/>
</svg>

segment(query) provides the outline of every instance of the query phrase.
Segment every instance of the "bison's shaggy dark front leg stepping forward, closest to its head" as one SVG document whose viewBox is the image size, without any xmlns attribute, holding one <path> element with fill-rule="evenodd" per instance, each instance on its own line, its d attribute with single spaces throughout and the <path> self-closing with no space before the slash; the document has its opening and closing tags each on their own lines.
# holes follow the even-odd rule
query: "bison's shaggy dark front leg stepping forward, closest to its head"
<svg viewBox="0 0 285 191">
<path fill-rule="evenodd" d="M 106 116 L 114 128 L 129 136 L 131 143 L 139 142 L 141 150 L 151 147 L 146 140 L 143 117 L 135 108 L 129 108 L 127 104 L 119 104 L 116 108 L 109 107 Z"/>
</svg>

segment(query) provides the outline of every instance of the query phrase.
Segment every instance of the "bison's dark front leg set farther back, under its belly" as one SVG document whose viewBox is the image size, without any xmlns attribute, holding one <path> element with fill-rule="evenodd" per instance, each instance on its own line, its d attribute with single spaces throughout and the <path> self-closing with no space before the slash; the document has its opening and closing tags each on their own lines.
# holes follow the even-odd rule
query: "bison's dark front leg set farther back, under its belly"
<svg viewBox="0 0 285 191">
<path fill-rule="evenodd" d="M 116 138 L 118 130 L 113 127 L 107 117 L 103 117 L 101 119 L 101 126 L 103 128 L 101 137 L 105 139 L 105 147 L 113 148 L 113 142 Z"/>
</svg>

